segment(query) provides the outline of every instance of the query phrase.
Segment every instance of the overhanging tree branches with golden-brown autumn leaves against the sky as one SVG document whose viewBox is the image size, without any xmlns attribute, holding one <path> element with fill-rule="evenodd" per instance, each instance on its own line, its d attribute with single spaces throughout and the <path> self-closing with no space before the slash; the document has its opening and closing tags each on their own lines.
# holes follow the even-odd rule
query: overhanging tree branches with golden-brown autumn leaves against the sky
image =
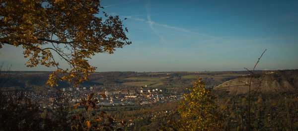
<svg viewBox="0 0 298 131">
<path fill-rule="evenodd" d="M 28 67 L 56 67 L 51 86 L 59 80 L 78 84 L 96 69 L 91 56 L 131 44 L 119 16 L 98 14 L 100 8 L 99 0 L 0 0 L 0 48 L 21 46 Z"/>
</svg>

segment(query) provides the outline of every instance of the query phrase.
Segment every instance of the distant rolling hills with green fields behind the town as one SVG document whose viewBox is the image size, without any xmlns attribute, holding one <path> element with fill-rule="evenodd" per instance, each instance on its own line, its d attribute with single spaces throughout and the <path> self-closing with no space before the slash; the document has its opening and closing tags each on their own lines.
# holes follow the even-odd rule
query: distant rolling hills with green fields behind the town
<svg viewBox="0 0 298 131">
<path fill-rule="evenodd" d="M 45 93 L 52 89 L 46 85 L 49 71 L 8 71 L 0 75 L 0 88 L 4 91 L 25 90 L 36 93 Z M 6 74 L 6 75 L 5 75 Z M 84 81 L 79 87 L 94 85 L 121 85 L 124 87 L 163 88 L 172 90 L 189 86 L 198 75 L 206 82 L 207 87 L 214 87 L 226 80 L 247 74 L 247 71 L 202 71 L 202 72 L 95 72 L 89 76 L 89 81 Z M 67 81 L 58 82 L 58 88 L 67 88 L 72 85 Z M 57 88 L 57 87 L 55 87 Z"/>
</svg>

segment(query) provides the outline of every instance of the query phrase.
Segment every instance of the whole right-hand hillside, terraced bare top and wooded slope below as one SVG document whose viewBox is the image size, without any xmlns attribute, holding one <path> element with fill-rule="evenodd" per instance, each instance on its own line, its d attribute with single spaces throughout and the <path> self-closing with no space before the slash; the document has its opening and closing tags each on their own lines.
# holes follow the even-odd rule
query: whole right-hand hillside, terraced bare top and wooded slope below
<svg viewBox="0 0 298 131">
<path fill-rule="evenodd" d="M 251 129 L 256 131 L 298 130 L 298 70 L 257 73 L 251 93 Z M 248 77 L 224 82 L 215 88 L 216 103 L 224 117 L 224 130 L 246 130 Z M 224 87 L 224 88 L 223 88 Z"/>
</svg>

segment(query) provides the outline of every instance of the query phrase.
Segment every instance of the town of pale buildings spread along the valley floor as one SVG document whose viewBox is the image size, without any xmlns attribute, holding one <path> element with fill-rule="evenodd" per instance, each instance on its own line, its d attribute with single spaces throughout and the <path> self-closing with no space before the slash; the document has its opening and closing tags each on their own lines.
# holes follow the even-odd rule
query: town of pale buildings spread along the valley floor
<svg viewBox="0 0 298 131">
<path fill-rule="evenodd" d="M 24 95 L 34 102 L 40 104 L 40 108 L 53 107 L 53 98 L 57 91 L 49 90 L 51 95 L 42 95 L 34 92 L 25 91 Z M 79 103 L 81 98 L 87 98 L 91 93 L 98 99 L 97 106 L 126 106 L 166 103 L 182 98 L 182 93 L 164 91 L 161 88 L 144 87 L 127 90 L 121 85 L 94 85 L 90 87 L 69 87 L 60 90 L 63 97 L 70 99 L 71 103 Z M 9 93 L 9 92 L 7 92 Z M 105 98 L 102 95 L 105 95 Z"/>
</svg>

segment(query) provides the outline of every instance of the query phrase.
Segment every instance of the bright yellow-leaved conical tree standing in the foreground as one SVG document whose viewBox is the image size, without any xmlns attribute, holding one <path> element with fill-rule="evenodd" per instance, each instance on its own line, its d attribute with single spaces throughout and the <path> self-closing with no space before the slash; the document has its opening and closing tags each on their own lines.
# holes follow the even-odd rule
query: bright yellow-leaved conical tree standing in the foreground
<svg viewBox="0 0 298 131">
<path fill-rule="evenodd" d="M 221 116 L 216 111 L 211 91 L 201 78 L 193 82 L 190 93 L 184 94 L 178 112 L 181 114 L 180 131 L 220 131 Z"/>
</svg>

